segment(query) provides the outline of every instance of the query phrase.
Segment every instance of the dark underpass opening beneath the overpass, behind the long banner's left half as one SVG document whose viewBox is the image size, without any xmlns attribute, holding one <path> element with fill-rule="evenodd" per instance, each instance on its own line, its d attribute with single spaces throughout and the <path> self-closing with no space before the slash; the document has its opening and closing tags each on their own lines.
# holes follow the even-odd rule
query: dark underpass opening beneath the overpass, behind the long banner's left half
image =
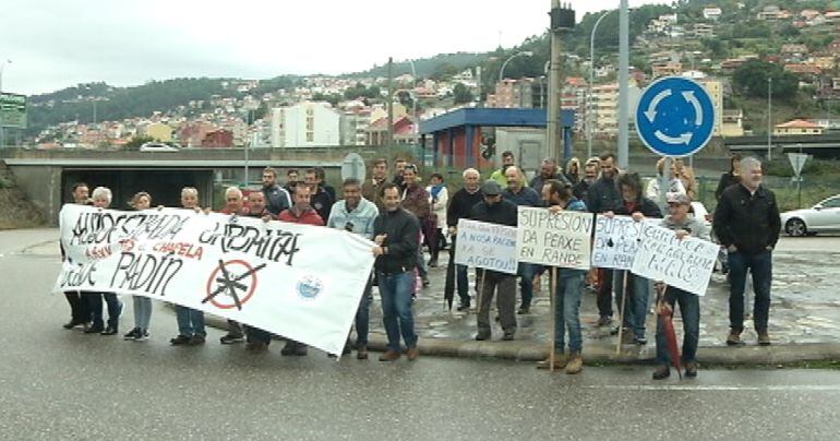
<svg viewBox="0 0 840 441">
<path fill-rule="evenodd" d="M 152 195 L 152 206 L 181 206 L 181 189 L 199 189 L 201 206 L 209 206 L 213 201 L 213 170 L 119 170 L 119 169 L 65 169 L 61 175 L 61 196 L 72 202 L 70 191 L 74 183 L 85 182 L 91 190 L 104 186 L 111 189 L 113 210 L 131 210 L 131 198 L 139 191 Z"/>
</svg>

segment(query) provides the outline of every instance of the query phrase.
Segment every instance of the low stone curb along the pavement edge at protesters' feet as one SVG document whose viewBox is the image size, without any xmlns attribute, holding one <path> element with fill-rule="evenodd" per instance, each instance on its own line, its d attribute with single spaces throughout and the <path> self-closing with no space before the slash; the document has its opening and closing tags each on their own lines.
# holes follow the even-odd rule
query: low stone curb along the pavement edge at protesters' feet
<svg viewBox="0 0 840 441">
<path fill-rule="evenodd" d="M 207 326 L 225 330 L 225 319 L 207 314 Z M 381 332 L 371 332 L 368 349 L 385 351 L 387 339 Z M 549 357 L 549 345 L 538 342 L 476 342 L 449 338 L 420 338 L 418 348 L 421 355 L 457 358 L 495 358 L 501 360 L 540 361 Z M 586 365 L 652 365 L 656 347 L 624 345 L 620 354 L 615 345 L 599 344 L 584 347 Z M 701 365 L 757 366 L 784 365 L 802 361 L 840 360 L 840 344 L 807 343 L 771 346 L 701 346 L 697 349 L 697 359 Z"/>
</svg>

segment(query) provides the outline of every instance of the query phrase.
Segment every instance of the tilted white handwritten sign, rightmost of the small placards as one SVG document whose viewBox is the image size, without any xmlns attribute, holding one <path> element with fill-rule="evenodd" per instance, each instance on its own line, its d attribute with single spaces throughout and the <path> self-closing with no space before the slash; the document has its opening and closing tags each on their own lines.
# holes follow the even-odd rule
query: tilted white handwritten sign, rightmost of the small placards
<svg viewBox="0 0 840 441">
<path fill-rule="evenodd" d="M 696 237 L 677 239 L 674 231 L 650 223 L 641 224 L 640 238 L 633 274 L 706 295 L 718 245 Z"/>
</svg>

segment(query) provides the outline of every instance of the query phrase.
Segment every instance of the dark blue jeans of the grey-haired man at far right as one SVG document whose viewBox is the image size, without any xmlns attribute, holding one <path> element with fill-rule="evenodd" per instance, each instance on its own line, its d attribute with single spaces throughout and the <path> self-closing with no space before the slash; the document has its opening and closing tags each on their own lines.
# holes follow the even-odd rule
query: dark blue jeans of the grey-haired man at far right
<svg viewBox="0 0 840 441">
<path fill-rule="evenodd" d="M 757 332 L 767 331 L 770 314 L 770 282 L 772 281 L 772 253 L 763 251 L 746 254 L 741 251 L 729 253 L 729 325 L 734 331 L 744 330 L 744 285 L 746 271 L 753 272 L 753 321 Z"/>
</svg>

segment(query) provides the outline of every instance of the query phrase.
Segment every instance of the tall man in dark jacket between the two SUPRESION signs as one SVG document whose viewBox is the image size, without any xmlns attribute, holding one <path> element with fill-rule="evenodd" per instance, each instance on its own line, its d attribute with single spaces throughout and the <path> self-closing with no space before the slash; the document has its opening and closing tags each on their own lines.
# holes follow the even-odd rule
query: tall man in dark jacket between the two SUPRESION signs
<svg viewBox="0 0 840 441">
<path fill-rule="evenodd" d="M 621 193 L 616 184 L 615 155 L 604 153 L 599 157 L 601 177 L 589 186 L 586 195 L 586 206 L 592 213 L 607 213 L 617 210 L 622 204 Z M 599 326 L 605 326 L 612 321 L 612 270 L 598 271 L 598 319 Z"/>
</svg>

